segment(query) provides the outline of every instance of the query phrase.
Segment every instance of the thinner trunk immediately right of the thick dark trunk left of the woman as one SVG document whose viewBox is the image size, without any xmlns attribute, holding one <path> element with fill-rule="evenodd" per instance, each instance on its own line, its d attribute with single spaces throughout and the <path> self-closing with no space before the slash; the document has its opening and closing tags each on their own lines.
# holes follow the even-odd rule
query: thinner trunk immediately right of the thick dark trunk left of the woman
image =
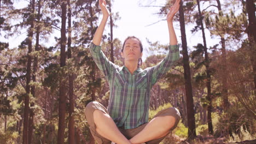
<svg viewBox="0 0 256 144">
<path fill-rule="evenodd" d="M 68 0 L 68 58 L 72 57 L 71 51 L 71 4 Z M 68 122 L 68 143 L 74 144 L 74 86 L 73 86 L 73 73 L 68 75 L 68 93 L 69 93 L 69 122 Z"/>
</svg>

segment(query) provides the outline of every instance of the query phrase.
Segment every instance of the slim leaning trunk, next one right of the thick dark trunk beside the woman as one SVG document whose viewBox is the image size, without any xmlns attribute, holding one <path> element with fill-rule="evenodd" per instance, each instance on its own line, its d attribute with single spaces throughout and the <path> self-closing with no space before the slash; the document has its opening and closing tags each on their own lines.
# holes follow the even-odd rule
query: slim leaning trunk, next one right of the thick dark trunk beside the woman
<svg viewBox="0 0 256 144">
<path fill-rule="evenodd" d="M 197 7 L 199 11 L 199 20 L 200 20 L 200 25 L 202 29 L 202 37 L 203 37 L 203 51 L 205 52 L 205 61 L 206 61 L 206 87 L 207 87 L 207 100 L 209 101 L 208 107 L 207 107 L 207 122 L 208 122 L 208 133 L 210 135 L 213 134 L 213 127 L 212 127 L 212 98 L 211 98 L 211 75 L 210 75 L 210 61 L 208 58 L 208 52 L 207 52 L 207 46 L 206 46 L 206 38 L 205 38 L 205 28 L 203 27 L 203 22 L 202 22 L 202 13 L 200 10 L 200 2 L 199 0 L 196 0 L 197 2 Z"/>
</svg>

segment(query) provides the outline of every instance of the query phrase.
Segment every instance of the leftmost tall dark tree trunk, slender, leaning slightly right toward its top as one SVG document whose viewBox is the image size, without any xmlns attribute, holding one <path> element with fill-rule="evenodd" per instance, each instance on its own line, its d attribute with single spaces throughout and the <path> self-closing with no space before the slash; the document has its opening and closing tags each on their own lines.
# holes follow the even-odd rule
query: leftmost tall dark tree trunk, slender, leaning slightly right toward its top
<svg viewBox="0 0 256 144">
<path fill-rule="evenodd" d="M 34 28 L 34 0 L 31 1 L 31 21 L 30 29 L 28 30 L 28 52 L 27 52 L 27 73 L 26 73 L 26 95 L 25 95 L 25 109 L 24 109 L 24 124 L 23 124 L 23 139 L 22 143 L 28 143 L 28 114 L 30 112 L 30 80 L 31 80 L 31 63 L 32 57 L 30 53 L 32 52 L 32 39 L 33 39 L 33 28 Z"/>
</svg>

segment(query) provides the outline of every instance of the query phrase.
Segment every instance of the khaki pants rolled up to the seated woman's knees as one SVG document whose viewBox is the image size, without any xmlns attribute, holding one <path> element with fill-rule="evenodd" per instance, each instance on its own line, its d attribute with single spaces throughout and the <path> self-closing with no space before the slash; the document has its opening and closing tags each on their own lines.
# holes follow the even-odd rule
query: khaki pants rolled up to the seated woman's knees
<svg viewBox="0 0 256 144">
<path fill-rule="evenodd" d="M 103 113 L 106 113 L 106 114 L 109 115 L 106 107 L 104 107 L 102 104 L 100 104 L 96 101 L 92 101 L 88 105 L 86 105 L 85 117 L 86 117 L 86 120 L 87 120 L 88 124 L 90 125 L 91 134 L 92 134 L 92 136 L 94 136 L 94 139 L 97 141 L 98 144 L 110 144 L 111 143 L 110 140 L 104 138 L 103 136 L 98 134 L 97 131 L 96 131 L 96 125 L 94 123 L 94 117 L 93 117 L 93 113 L 94 113 L 95 110 L 100 110 Z M 170 129 L 170 133 L 174 128 L 177 127 L 177 125 L 179 123 L 179 119 L 181 118 L 181 115 L 179 114 L 179 111 L 174 107 L 170 107 L 168 109 L 161 110 L 154 117 L 161 117 L 161 116 L 173 116 L 176 119 L 174 126 Z M 142 125 L 139 125 L 139 127 L 134 128 L 134 129 L 124 129 L 122 127 L 118 127 L 118 129 L 129 140 L 133 136 L 137 135 L 139 133 L 139 131 L 141 131 L 146 125 L 147 125 L 147 123 L 144 123 Z M 165 138 L 165 136 L 161 137 L 160 139 L 148 141 L 146 143 L 147 144 L 158 144 L 164 138 Z"/>
</svg>

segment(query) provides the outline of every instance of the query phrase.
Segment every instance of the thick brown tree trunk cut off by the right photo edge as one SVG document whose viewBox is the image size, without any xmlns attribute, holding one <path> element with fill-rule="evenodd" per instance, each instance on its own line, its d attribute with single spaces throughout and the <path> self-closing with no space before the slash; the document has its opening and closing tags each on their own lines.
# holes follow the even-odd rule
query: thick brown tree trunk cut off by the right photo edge
<svg viewBox="0 0 256 144">
<path fill-rule="evenodd" d="M 248 38 L 250 43 L 250 50 L 249 52 L 250 59 L 253 65 L 253 82 L 254 82 L 254 94 L 256 93 L 256 17 L 255 17 L 255 4 L 253 0 L 246 0 L 246 9 L 248 13 Z"/>
</svg>

